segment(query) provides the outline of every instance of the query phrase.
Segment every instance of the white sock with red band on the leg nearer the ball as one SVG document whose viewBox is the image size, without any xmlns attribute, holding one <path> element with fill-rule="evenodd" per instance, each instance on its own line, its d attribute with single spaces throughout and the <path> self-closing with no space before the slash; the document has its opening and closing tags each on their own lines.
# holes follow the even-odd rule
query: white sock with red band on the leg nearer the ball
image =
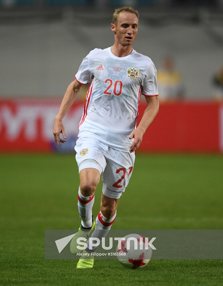
<svg viewBox="0 0 223 286">
<path fill-rule="evenodd" d="M 102 215 L 101 211 L 99 211 L 95 220 L 95 230 L 91 234 L 91 237 L 97 237 L 101 241 L 101 238 L 105 237 L 109 233 L 109 230 L 111 229 L 111 226 L 114 223 L 115 219 L 116 213 L 111 219 L 106 219 L 106 217 Z M 87 248 L 89 249 L 89 240 L 87 241 Z M 96 248 L 97 246 L 92 246 L 92 250 Z"/>
</svg>

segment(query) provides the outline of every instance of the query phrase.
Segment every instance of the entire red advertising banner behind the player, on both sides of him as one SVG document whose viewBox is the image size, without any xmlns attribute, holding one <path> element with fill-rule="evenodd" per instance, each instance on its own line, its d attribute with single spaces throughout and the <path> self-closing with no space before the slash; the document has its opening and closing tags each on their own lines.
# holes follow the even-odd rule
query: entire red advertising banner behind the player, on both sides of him
<svg viewBox="0 0 223 286">
<path fill-rule="evenodd" d="M 0 152 L 73 151 L 83 102 L 63 119 L 67 142 L 56 147 L 53 121 L 60 100 L 0 100 Z M 146 104 L 139 106 L 142 118 Z M 223 106 L 212 102 L 161 104 L 139 148 L 143 152 L 222 152 Z"/>
</svg>

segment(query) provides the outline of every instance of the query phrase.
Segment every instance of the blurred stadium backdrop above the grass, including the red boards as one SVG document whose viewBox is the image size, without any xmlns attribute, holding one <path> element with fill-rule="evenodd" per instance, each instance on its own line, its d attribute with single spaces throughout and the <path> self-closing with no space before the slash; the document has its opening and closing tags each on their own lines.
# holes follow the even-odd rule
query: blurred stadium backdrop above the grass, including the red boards
<svg viewBox="0 0 223 286">
<path fill-rule="evenodd" d="M 134 49 L 154 61 L 161 101 L 141 150 L 222 152 L 220 0 L 1 0 L 1 151 L 55 149 L 53 118 L 68 84 L 91 49 L 113 44 L 114 7 L 130 4 L 140 11 Z M 73 150 L 87 88 L 65 117 L 70 140 L 60 152 Z"/>
</svg>

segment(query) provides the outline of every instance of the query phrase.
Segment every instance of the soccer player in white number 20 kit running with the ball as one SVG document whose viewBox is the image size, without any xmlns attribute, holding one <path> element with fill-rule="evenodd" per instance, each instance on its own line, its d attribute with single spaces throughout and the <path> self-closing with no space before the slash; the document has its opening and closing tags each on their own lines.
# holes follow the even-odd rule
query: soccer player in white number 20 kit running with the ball
<svg viewBox="0 0 223 286">
<path fill-rule="evenodd" d="M 55 117 L 53 134 L 60 147 L 60 142 L 67 139 L 62 119 L 81 87 L 92 79 L 75 146 L 80 176 L 78 210 L 81 226 L 71 241 L 73 254 L 79 251 L 76 248 L 78 237 L 98 237 L 99 230 L 109 231 L 114 223 L 118 200 L 132 175 L 135 150 L 159 109 L 154 63 L 132 48 L 138 27 L 138 11 L 131 7 L 115 10 L 111 24 L 114 45 L 96 48 L 83 59 Z M 148 106 L 136 127 L 141 95 L 145 96 Z M 60 133 L 64 139 L 59 137 Z M 92 207 L 101 174 L 101 208 L 94 220 Z M 79 259 L 77 268 L 88 267 L 93 267 L 93 259 Z"/>
</svg>

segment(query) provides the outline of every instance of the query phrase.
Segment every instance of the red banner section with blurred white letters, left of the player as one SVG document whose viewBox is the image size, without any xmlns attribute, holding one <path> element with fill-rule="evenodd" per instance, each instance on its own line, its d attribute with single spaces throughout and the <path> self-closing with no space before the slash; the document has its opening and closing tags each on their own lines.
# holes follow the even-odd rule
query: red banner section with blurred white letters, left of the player
<svg viewBox="0 0 223 286">
<path fill-rule="evenodd" d="M 51 152 L 56 148 L 53 122 L 61 100 L 1 100 L 0 152 Z M 69 139 L 61 152 L 77 140 L 83 103 L 72 106 L 63 119 Z M 65 145 L 65 144 L 61 144 Z M 72 149 L 74 150 L 74 148 Z"/>
</svg>

